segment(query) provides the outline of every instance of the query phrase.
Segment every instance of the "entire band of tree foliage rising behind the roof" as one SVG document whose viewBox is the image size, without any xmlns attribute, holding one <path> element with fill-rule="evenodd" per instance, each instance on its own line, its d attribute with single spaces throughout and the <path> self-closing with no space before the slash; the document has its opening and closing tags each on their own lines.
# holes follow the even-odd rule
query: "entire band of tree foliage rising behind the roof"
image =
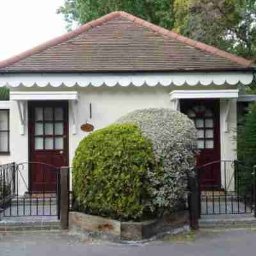
<svg viewBox="0 0 256 256">
<path fill-rule="evenodd" d="M 58 13 L 70 29 L 74 22 L 84 24 L 117 10 L 223 51 L 255 58 L 255 0 L 66 0 Z"/>
</svg>

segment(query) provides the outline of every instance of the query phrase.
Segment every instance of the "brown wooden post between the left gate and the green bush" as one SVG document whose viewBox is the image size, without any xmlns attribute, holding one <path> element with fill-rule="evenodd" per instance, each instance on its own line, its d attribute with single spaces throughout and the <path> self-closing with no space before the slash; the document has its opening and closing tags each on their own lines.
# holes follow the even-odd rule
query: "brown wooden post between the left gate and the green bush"
<svg viewBox="0 0 256 256">
<path fill-rule="evenodd" d="M 61 167 L 60 170 L 60 214 L 61 214 L 61 228 L 68 228 L 68 196 L 69 196 L 69 180 L 68 180 L 68 167 Z"/>
</svg>

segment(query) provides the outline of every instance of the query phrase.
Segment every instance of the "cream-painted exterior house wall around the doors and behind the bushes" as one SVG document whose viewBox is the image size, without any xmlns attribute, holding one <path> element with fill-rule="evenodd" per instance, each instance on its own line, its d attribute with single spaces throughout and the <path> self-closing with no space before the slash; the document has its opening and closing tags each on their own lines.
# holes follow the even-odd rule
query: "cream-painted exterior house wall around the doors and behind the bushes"
<svg viewBox="0 0 256 256">
<path fill-rule="evenodd" d="M 12 88 L 12 91 L 77 91 L 79 92 L 79 100 L 77 103 L 77 134 L 72 134 L 72 119 L 69 115 L 69 165 L 72 164 L 75 150 L 79 141 L 87 134 L 81 131 L 80 127 L 87 120 L 100 129 L 115 122 L 120 116 L 125 115 L 135 109 L 141 108 L 172 108 L 169 93 L 170 87 L 163 86 L 142 86 L 142 87 L 121 87 L 109 88 L 102 86 L 95 88 L 92 86 L 81 88 L 79 86 L 67 88 L 38 88 L 38 87 L 18 87 Z M 92 103 L 92 119 L 89 118 L 89 105 Z M 236 103 L 232 103 L 230 115 L 228 117 L 230 130 L 224 132 L 225 111 L 227 100 L 221 100 L 220 120 L 221 120 L 221 159 L 236 159 L 236 142 L 233 140 L 234 134 L 232 129 L 236 129 Z M 69 113 L 71 113 L 71 103 L 69 103 Z M 26 111 L 26 116 L 28 111 Z M 25 134 L 20 135 L 20 117 L 17 102 L 10 102 L 10 156 L 0 156 L 0 163 L 9 163 L 15 161 L 17 163 L 28 162 L 28 119 L 26 118 Z M 231 173 L 231 172 L 230 172 Z M 28 186 L 28 166 L 24 165 L 22 170 L 24 180 Z M 230 174 L 231 175 L 231 174 Z M 231 175 L 232 176 L 232 175 Z M 230 177 L 231 177 L 230 176 Z M 22 180 L 22 179 L 20 179 Z M 20 181 L 21 182 L 21 181 Z M 26 186 L 22 182 L 20 184 L 21 193 L 26 191 Z"/>
</svg>

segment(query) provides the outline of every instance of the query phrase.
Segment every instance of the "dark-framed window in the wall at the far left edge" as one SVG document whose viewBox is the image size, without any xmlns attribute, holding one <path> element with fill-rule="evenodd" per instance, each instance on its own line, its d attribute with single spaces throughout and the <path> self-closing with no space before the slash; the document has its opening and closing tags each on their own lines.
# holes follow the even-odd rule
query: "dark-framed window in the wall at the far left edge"
<svg viewBox="0 0 256 256">
<path fill-rule="evenodd" d="M 9 109 L 0 109 L 0 154 L 10 153 Z"/>
</svg>

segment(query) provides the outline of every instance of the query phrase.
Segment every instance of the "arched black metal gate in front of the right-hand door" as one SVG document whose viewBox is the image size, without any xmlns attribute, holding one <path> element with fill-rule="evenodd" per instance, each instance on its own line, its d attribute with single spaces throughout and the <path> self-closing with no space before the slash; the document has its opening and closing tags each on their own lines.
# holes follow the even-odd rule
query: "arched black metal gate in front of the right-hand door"
<svg viewBox="0 0 256 256">
<path fill-rule="evenodd" d="M 200 214 L 252 214 L 256 194 L 252 166 L 240 161 L 214 161 L 198 166 L 195 173 Z"/>
</svg>

